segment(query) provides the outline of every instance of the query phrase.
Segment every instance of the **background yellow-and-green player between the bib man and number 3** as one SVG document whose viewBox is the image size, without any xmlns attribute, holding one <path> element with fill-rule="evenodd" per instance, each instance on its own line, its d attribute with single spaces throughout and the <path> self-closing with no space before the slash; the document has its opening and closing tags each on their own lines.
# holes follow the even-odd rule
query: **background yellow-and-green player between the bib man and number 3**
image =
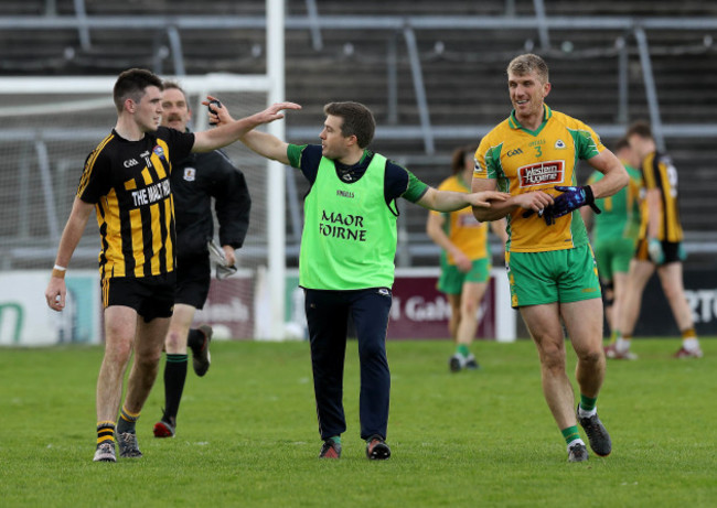
<svg viewBox="0 0 717 508">
<path fill-rule="evenodd" d="M 475 166 L 475 145 L 459 147 L 451 158 L 452 176 L 438 186 L 439 191 L 470 192 Z M 505 220 L 490 223 L 491 230 L 507 240 Z M 456 212 L 428 214 L 426 233 L 441 247 L 441 273 L 438 290 L 446 294 L 451 306 L 448 329 L 456 342 L 456 353 L 448 365 L 453 372 L 479 368 L 470 346 L 478 329 L 478 309 L 491 278 L 491 252 L 488 227 L 473 217 L 470 207 Z"/>
</svg>

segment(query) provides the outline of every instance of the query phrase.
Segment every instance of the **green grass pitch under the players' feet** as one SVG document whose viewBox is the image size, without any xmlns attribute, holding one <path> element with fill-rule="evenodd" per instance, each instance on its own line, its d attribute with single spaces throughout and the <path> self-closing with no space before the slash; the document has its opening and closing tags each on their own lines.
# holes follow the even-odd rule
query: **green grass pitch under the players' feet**
<svg viewBox="0 0 717 508">
<path fill-rule="evenodd" d="M 529 341 L 479 342 L 481 370 L 459 374 L 448 370 L 449 342 L 389 342 L 386 462 L 366 460 L 358 436 L 355 341 L 340 461 L 317 458 L 307 343 L 213 344 L 207 376 L 190 367 L 171 440 L 152 436 L 160 370 L 138 423 L 145 457 L 116 464 L 92 462 L 101 348 L 3 348 L 0 505 L 715 506 L 717 339 L 703 339 L 699 360 L 671 358 L 677 347 L 636 339 L 638 361 L 608 363 L 598 408 L 613 451 L 582 464 L 566 461 Z"/>
</svg>

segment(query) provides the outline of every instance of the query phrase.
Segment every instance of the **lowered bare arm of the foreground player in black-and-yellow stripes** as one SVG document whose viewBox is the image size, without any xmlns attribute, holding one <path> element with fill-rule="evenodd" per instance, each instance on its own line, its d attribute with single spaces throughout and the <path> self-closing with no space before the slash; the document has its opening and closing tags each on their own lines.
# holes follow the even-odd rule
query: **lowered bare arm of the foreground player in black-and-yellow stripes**
<svg viewBox="0 0 717 508">
<path fill-rule="evenodd" d="M 55 266 L 67 268 L 69 259 L 85 231 L 89 215 L 94 209 L 95 205 L 85 203 L 81 198 L 75 197 L 75 202 L 72 205 L 72 212 L 69 213 L 69 218 L 67 219 L 65 229 L 62 231 L 62 237 L 60 238 Z M 47 289 L 45 290 L 47 306 L 57 312 L 65 309 L 65 295 L 67 292 L 64 272 L 60 274 L 62 277 L 55 277 L 55 270 L 53 270 L 53 277 L 50 278 Z"/>
</svg>

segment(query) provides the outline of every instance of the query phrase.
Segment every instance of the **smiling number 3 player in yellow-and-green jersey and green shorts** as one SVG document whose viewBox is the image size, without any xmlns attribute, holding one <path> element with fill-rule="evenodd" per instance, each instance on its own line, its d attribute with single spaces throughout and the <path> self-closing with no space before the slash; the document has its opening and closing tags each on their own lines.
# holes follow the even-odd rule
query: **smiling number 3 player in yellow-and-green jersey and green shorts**
<svg viewBox="0 0 717 508">
<path fill-rule="evenodd" d="M 475 152 L 473 192 L 499 188 L 511 197 L 490 209 L 474 209 L 479 220 L 507 218 L 506 267 L 512 305 L 518 309 L 541 359 L 543 392 L 568 445 L 568 460 L 588 460 L 577 421 L 590 446 L 610 454 L 610 435 L 597 414 L 604 378 L 602 300 L 588 235 L 578 208 L 595 206 L 628 184 L 628 173 L 587 125 L 547 107 L 548 67 L 525 54 L 507 66 L 511 116 L 489 132 Z M 577 186 L 579 159 L 604 177 Z M 566 374 L 563 323 L 578 357 L 578 411 Z M 577 417 L 577 418 L 576 418 Z"/>
</svg>

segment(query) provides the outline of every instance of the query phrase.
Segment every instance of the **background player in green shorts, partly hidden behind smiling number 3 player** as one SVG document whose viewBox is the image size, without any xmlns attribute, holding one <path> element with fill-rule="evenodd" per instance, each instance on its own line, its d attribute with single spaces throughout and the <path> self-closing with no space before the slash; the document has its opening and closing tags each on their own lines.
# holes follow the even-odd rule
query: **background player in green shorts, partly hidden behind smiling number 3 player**
<svg viewBox="0 0 717 508">
<path fill-rule="evenodd" d="M 638 167 L 640 159 L 625 138 L 618 140 L 614 145 L 614 154 L 620 159 L 630 175 L 630 183 L 617 194 L 599 199 L 598 206 L 602 214 L 592 214 L 589 207 L 580 208 L 580 214 L 586 224 L 592 219 L 592 248 L 598 261 L 598 272 L 603 290 L 604 313 L 610 325 L 612 341 L 606 346 L 608 358 L 633 359 L 629 354 L 622 356 L 617 353 L 614 343 L 618 336 L 618 323 L 620 323 L 620 310 L 622 309 L 628 270 L 630 260 L 635 251 L 635 242 L 640 233 L 640 187 L 642 175 Z M 588 185 L 592 185 L 602 179 L 602 173 L 593 172 L 588 179 Z"/>
</svg>

